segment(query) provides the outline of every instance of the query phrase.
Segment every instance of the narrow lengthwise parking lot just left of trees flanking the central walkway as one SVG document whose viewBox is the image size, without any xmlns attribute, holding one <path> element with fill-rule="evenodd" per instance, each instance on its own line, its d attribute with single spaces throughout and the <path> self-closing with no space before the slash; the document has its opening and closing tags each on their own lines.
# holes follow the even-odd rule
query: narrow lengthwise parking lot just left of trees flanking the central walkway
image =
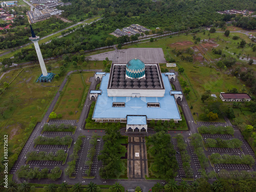
<svg viewBox="0 0 256 192">
<path fill-rule="evenodd" d="M 96 153 L 93 157 L 93 164 L 92 164 L 90 176 L 95 176 L 96 175 L 96 171 L 97 171 L 97 167 L 98 167 L 98 158 L 97 158 L 97 156 L 99 155 L 101 143 L 103 142 L 101 138 L 98 139 L 98 140 L 100 140 L 100 141 L 98 141 L 98 143 L 96 145 Z M 91 144 L 89 144 L 88 151 L 90 150 L 90 148 L 92 148 Z M 88 152 L 87 152 L 87 155 L 88 155 Z M 86 155 L 86 161 L 88 161 L 87 155 Z M 88 175 L 84 174 L 84 172 L 88 169 L 89 169 L 89 166 L 84 163 L 83 174 L 82 174 L 83 177 L 88 176 Z"/>
</svg>

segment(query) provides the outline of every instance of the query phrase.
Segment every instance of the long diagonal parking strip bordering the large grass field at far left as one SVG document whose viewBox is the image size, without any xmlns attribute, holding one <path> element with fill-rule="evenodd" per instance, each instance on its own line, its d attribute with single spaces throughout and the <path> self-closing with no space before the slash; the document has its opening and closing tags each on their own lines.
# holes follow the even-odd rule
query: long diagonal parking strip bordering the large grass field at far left
<svg viewBox="0 0 256 192">
<path fill-rule="evenodd" d="M 24 145 L 22 152 L 20 152 L 17 160 L 15 161 L 13 167 L 11 168 L 9 174 L 14 174 L 20 164 L 20 162 L 25 158 L 25 155 L 27 154 L 28 148 L 29 146 L 32 144 L 32 142 L 35 139 L 35 135 L 37 133 L 37 131 L 39 130 L 39 128 L 41 127 L 41 123 L 37 123 L 33 132 L 31 133 L 29 139 L 27 140 L 26 144 Z"/>
</svg>

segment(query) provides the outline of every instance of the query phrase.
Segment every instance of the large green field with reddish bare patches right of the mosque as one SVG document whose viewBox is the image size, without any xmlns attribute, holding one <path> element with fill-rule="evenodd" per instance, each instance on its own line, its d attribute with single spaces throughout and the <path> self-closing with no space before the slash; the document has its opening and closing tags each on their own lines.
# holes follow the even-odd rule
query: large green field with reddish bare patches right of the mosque
<svg viewBox="0 0 256 192">
<path fill-rule="evenodd" d="M 201 95 L 204 94 L 206 90 L 210 90 L 211 94 L 216 94 L 217 98 L 215 100 L 220 100 L 220 92 L 226 92 L 228 89 L 231 88 L 237 88 L 238 90 L 241 90 L 244 83 L 241 82 L 238 78 L 230 75 L 229 70 L 220 70 L 216 66 L 220 55 L 213 54 L 211 51 L 212 47 L 206 44 L 206 42 L 201 42 L 200 46 L 198 44 L 195 45 L 193 35 L 194 34 L 183 34 L 179 36 L 173 36 L 172 38 L 166 37 L 162 39 L 157 39 L 154 42 L 140 42 L 134 45 L 124 46 L 123 49 L 147 47 L 162 48 L 167 61 L 169 58 L 175 59 L 177 65 L 185 69 L 184 74 L 181 74 L 178 78 L 183 78 L 183 80 L 187 82 L 186 87 L 189 88 L 191 91 L 189 93 L 189 97 L 186 96 L 186 99 L 189 105 L 193 105 L 193 109 L 191 110 L 191 112 L 192 114 L 195 112 L 195 115 L 193 115 L 194 119 L 199 120 L 198 115 L 204 113 L 204 106 L 207 105 L 207 101 L 205 103 L 201 101 Z M 244 57 L 246 57 L 247 55 L 254 56 L 254 53 L 249 46 L 246 46 L 244 49 L 237 48 L 237 42 L 240 42 L 241 39 L 232 39 L 232 36 L 237 35 L 240 38 L 243 38 L 247 43 L 249 43 L 250 39 L 245 34 L 230 33 L 229 37 L 226 37 L 223 33 L 211 33 L 210 36 L 208 36 L 208 32 L 206 31 L 205 35 L 203 34 L 203 32 L 200 32 L 196 35 L 198 37 L 201 37 L 201 40 L 210 38 L 213 42 L 212 45 L 218 46 L 216 49 L 221 49 L 222 52 L 226 54 L 226 56 L 233 56 L 234 52 L 236 52 L 237 55 L 241 54 L 241 57 L 242 55 L 244 55 Z M 181 50 L 188 47 L 193 48 L 194 50 L 198 49 L 198 51 L 195 51 L 193 55 L 193 62 L 183 61 L 180 59 L 180 57 L 177 57 L 172 52 L 172 50 L 174 50 L 175 48 L 177 50 Z M 226 49 L 226 47 L 228 47 L 228 49 Z M 202 54 L 201 59 L 205 60 L 195 60 L 195 57 L 198 57 L 199 53 Z M 186 54 L 184 55 L 186 56 Z M 247 60 L 243 61 L 237 58 L 237 61 L 241 62 L 240 65 L 236 64 L 233 68 L 239 66 L 241 69 L 246 69 Z M 160 68 L 161 67 L 166 68 L 164 64 L 161 64 Z M 255 70 L 254 65 L 250 67 Z M 167 69 L 177 70 L 177 68 Z M 247 87 L 246 89 L 249 90 L 250 88 Z M 208 99 L 208 101 L 212 100 L 214 100 L 214 98 Z M 219 117 L 217 121 L 224 121 L 224 119 L 222 117 Z"/>
</svg>

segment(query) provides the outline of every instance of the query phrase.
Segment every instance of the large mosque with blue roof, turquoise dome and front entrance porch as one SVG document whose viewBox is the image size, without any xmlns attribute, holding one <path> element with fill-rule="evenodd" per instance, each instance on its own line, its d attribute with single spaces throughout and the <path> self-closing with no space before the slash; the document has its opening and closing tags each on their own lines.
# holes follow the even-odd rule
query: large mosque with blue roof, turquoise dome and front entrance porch
<svg viewBox="0 0 256 192">
<path fill-rule="evenodd" d="M 161 73 L 158 64 L 145 64 L 140 59 L 127 63 L 112 63 L 110 73 L 96 72 L 100 90 L 92 90 L 96 99 L 92 119 L 96 122 L 126 123 L 126 131 L 147 131 L 147 123 L 181 119 L 177 98 L 170 84 L 175 73 Z"/>
</svg>

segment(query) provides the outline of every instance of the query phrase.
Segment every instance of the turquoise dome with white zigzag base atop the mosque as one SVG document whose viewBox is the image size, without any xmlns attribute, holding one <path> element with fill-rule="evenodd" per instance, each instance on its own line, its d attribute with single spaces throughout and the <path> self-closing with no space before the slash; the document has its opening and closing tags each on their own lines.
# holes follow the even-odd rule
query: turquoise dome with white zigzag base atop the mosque
<svg viewBox="0 0 256 192">
<path fill-rule="evenodd" d="M 132 59 L 126 64 L 126 75 L 131 78 L 140 78 L 145 75 L 145 64 L 140 59 Z"/>
</svg>

